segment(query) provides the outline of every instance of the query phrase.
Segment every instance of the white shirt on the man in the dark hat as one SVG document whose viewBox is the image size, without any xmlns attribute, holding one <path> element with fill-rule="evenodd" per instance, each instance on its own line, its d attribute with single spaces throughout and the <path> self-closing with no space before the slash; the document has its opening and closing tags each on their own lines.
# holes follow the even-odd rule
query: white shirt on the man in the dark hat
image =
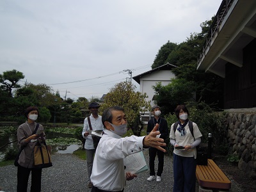
<svg viewBox="0 0 256 192">
<path fill-rule="evenodd" d="M 104 129 L 100 115 L 97 118 L 94 118 L 93 115 L 91 114 L 90 115 L 90 120 L 91 120 L 93 131 Z M 82 132 L 83 137 L 86 139 L 86 141 L 84 143 L 84 148 L 94 149 L 92 135 L 89 134 L 88 136 L 84 136 L 84 132 L 87 132 L 87 131 L 90 131 L 90 127 L 89 127 L 89 124 L 88 124 L 88 119 L 86 117 L 86 118 L 84 118 L 84 127 L 83 127 L 83 132 Z"/>
</svg>

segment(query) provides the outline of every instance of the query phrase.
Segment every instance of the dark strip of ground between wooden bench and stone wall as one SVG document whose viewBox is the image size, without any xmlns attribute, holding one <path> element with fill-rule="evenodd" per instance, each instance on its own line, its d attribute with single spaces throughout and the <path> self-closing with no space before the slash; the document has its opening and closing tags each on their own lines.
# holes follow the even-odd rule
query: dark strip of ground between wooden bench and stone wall
<svg viewBox="0 0 256 192">
<path fill-rule="evenodd" d="M 256 180 L 250 178 L 248 174 L 246 174 L 246 172 L 239 170 L 238 166 L 228 162 L 227 157 L 220 155 L 212 155 L 212 159 L 220 167 L 220 169 L 227 175 L 228 179 L 231 180 L 231 185 L 238 184 L 239 188 L 243 189 L 243 191 L 232 192 L 256 191 Z"/>
</svg>

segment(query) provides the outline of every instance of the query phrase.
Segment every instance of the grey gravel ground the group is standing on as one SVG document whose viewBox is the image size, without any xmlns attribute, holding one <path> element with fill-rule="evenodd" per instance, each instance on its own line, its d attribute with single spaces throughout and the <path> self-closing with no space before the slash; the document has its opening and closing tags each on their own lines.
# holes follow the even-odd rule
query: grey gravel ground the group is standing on
<svg viewBox="0 0 256 192">
<path fill-rule="evenodd" d="M 148 161 L 148 150 L 143 150 L 146 161 Z M 86 161 L 77 158 L 72 154 L 52 154 L 51 168 L 45 168 L 42 172 L 42 192 L 50 191 L 91 191 L 86 185 L 87 168 Z M 147 162 L 148 164 L 148 162 Z M 157 157 L 156 157 L 157 169 Z M 17 185 L 17 167 L 14 165 L 0 167 L 0 188 L 3 191 L 16 191 Z M 173 187 L 173 168 L 172 157 L 164 156 L 164 172 L 162 181 L 156 180 L 148 182 L 149 171 L 138 174 L 133 180 L 127 181 L 125 192 L 153 192 L 153 191 L 172 191 Z M 237 184 L 232 182 L 232 192 L 243 191 L 237 187 Z M 30 179 L 29 186 L 30 188 Z M 196 191 L 198 185 L 196 184 Z"/>
</svg>

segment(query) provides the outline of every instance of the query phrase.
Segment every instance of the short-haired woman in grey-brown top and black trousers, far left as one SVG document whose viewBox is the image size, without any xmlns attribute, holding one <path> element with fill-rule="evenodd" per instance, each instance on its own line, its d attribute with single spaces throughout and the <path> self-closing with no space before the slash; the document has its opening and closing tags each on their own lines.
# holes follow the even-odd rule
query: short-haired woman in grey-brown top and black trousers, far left
<svg viewBox="0 0 256 192">
<path fill-rule="evenodd" d="M 36 134 L 35 121 L 39 116 L 39 111 L 35 106 L 27 108 L 25 111 L 25 116 L 27 118 L 26 122 L 19 125 L 17 129 L 19 148 L 24 147 L 18 160 L 17 191 L 27 191 L 30 172 L 30 191 L 41 191 L 42 168 L 34 168 L 34 148 L 36 141 L 45 140 L 44 127 L 39 124 L 37 132 L 40 132 L 40 134 Z"/>
</svg>

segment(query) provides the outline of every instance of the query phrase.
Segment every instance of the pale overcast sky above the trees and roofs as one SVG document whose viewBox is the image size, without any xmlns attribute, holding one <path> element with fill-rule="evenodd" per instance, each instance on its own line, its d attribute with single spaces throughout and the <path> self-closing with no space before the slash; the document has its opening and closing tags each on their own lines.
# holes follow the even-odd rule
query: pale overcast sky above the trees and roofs
<svg viewBox="0 0 256 192">
<path fill-rule="evenodd" d="M 0 74 L 18 70 L 20 85 L 47 84 L 62 98 L 100 98 L 127 70 L 151 70 L 168 41 L 200 33 L 221 1 L 1 0 Z"/>
</svg>

